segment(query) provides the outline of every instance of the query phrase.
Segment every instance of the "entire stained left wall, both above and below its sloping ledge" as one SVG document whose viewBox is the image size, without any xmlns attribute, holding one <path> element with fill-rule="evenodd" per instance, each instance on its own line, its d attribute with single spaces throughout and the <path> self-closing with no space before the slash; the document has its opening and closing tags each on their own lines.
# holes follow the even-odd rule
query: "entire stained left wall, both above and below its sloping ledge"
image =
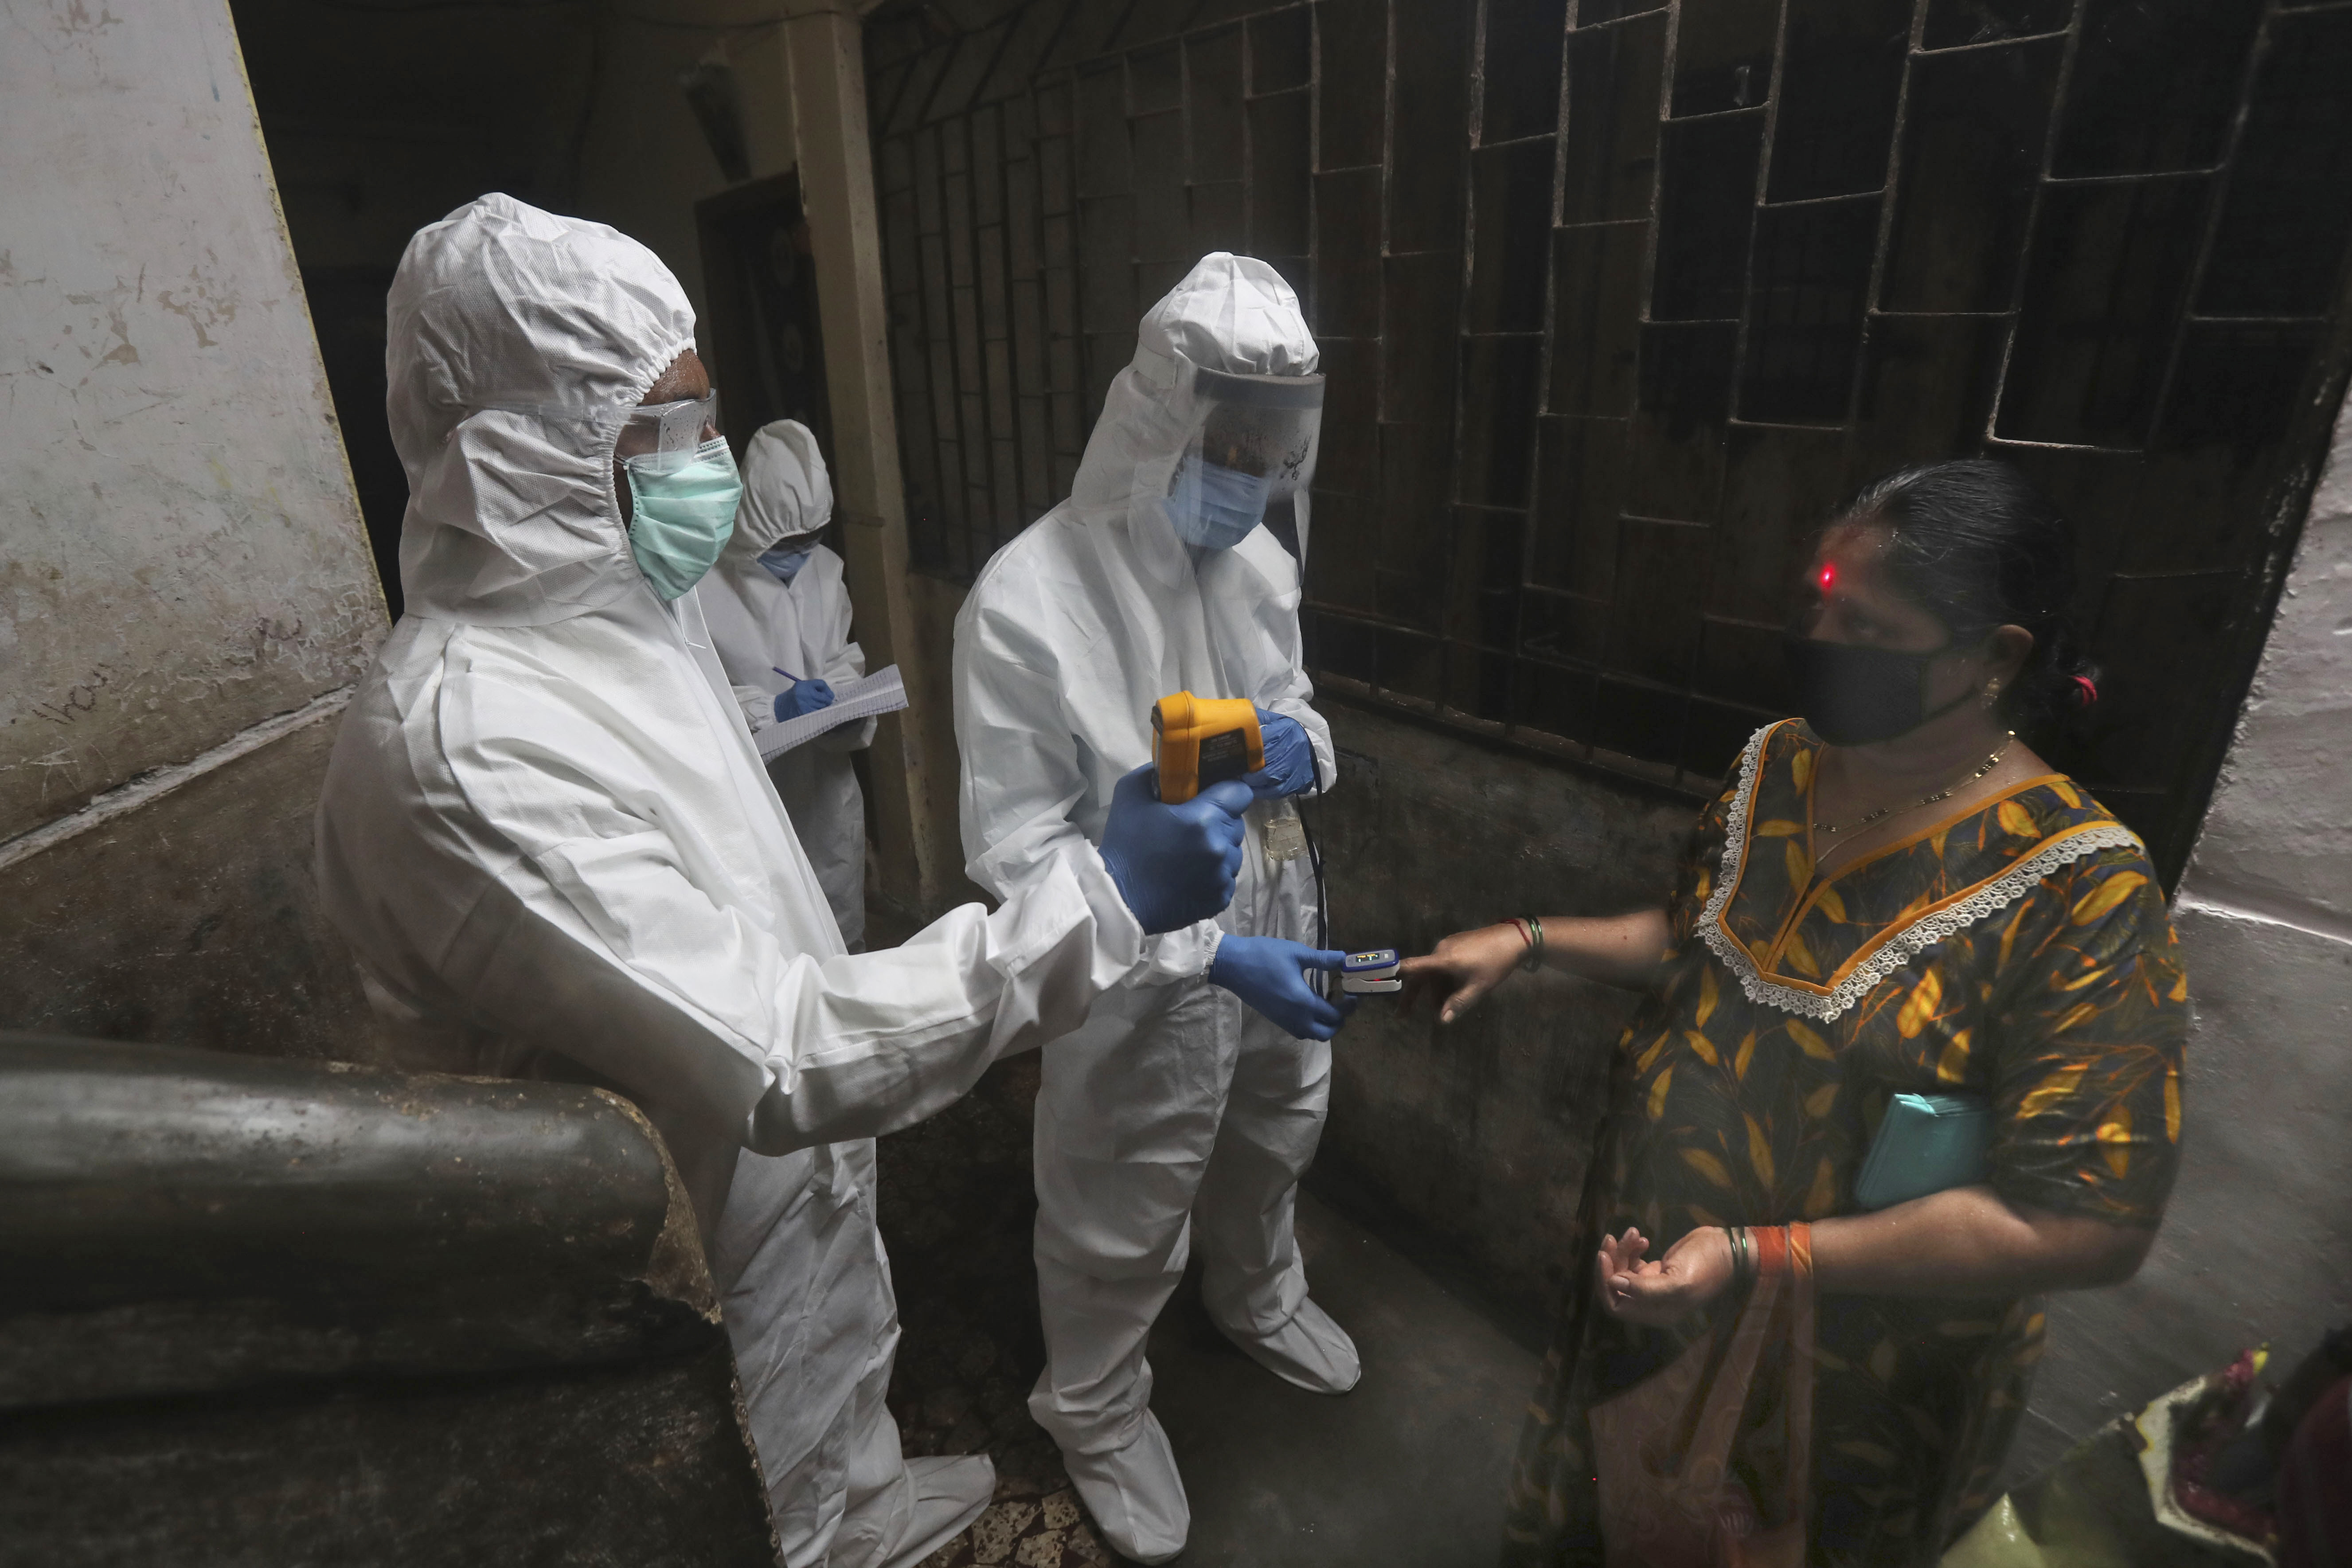
<svg viewBox="0 0 2352 1568">
<path fill-rule="evenodd" d="M 228 9 L 0 0 L 0 1025 L 334 1053 L 383 632 Z"/>
</svg>

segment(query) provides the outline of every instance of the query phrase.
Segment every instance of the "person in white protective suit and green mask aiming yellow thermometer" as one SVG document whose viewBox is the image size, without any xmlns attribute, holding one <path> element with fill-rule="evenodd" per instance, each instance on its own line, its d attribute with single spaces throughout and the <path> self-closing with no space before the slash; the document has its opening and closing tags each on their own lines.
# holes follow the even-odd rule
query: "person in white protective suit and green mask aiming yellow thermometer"
<svg viewBox="0 0 2352 1568">
<path fill-rule="evenodd" d="M 701 1220 L 793 1568 L 913 1563 L 993 1490 L 882 1406 L 873 1135 L 1225 905 L 1249 790 L 1120 785 L 1098 858 L 844 954 L 687 590 L 739 482 L 649 249 L 487 195 L 388 299 L 407 614 L 336 736 L 318 879 L 412 1060 L 621 1086 Z"/>
</svg>

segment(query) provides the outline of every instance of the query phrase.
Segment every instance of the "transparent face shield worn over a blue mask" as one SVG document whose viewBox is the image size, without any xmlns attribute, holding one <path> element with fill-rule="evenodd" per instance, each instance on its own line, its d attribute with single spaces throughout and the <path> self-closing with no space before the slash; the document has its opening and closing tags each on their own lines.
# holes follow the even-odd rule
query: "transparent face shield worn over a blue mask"
<svg viewBox="0 0 2352 1568">
<path fill-rule="evenodd" d="M 1169 484 L 1169 522 L 1188 545 L 1230 550 L 1315 482 L 1322 376 L 1230 376 L 1200 367 L 1202 409 Z"/>
</svg>

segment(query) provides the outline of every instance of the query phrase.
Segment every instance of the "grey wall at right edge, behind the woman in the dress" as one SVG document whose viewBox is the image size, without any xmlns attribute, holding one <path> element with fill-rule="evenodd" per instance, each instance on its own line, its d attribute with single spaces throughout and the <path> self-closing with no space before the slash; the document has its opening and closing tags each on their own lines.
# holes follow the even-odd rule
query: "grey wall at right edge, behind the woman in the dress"
<svg viewBox="0 0 2352 1568">
<path fill-rule="evenodd" d="M 2352 418 L 2173 900 L 2197 1032 L 2140 1276 L 2051 1305 L 2020 1462 L 2270 1340 L 2352 1321 Z"/>
</svg>

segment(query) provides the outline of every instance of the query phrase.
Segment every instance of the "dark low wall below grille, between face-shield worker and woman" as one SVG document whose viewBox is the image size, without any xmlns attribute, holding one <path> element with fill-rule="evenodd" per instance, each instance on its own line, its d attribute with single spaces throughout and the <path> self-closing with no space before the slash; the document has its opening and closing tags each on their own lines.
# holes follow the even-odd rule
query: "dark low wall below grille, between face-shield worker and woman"
<svg viewBox="0 0 2352 1568">
<path fill-rule="evenodd" d="M 1341 785 L 1308 806 L 1331 943 L 1428 952 L 1529 910 L 1618 914 L 1663 903 L 1698 802 L 1324 703 Z M 1564 1239 L 1632 992 L 1519 976 L 1458 1025 L 1367 999 L 1338 1037 L 1331 1121 L 1310 1180 L 1367 1220 L 1468 1265 L 1522 1326 L 1548 1319 L 1581 1260 Z"/>
</svg>

